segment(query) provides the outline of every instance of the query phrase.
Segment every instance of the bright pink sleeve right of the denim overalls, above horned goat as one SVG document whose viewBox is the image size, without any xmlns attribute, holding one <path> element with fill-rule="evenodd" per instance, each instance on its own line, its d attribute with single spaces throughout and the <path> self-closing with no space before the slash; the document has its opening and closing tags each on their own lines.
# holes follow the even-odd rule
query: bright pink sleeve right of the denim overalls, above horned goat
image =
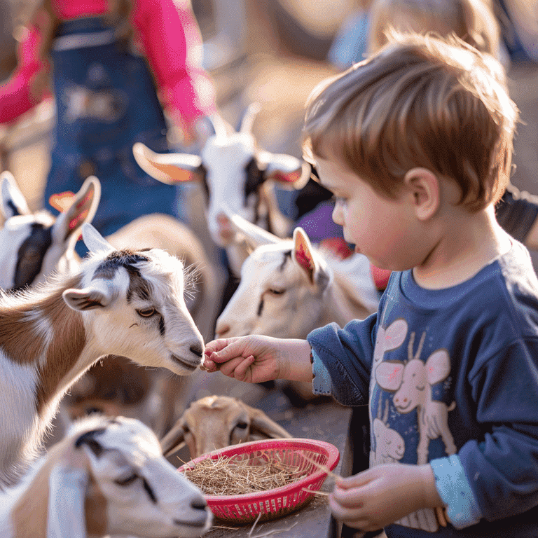
<svg viewBox="0 0 538 538">
<path fill-rule="evenodd" d="M 201 67 L 200 30 L 184 0 L 136 0 L 133 24 L 158 85 L 177 121 L 190 125 L 215 110 L 214 85 Z"/>
</svg>

